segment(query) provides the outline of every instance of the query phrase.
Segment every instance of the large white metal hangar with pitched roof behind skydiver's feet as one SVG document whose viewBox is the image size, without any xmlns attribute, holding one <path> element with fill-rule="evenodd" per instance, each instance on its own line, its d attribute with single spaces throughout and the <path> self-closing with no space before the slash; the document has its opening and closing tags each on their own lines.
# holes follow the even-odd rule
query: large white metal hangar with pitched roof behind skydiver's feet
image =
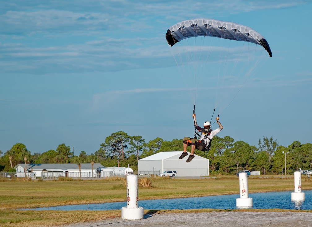
<svg viewBox="0 0 312 227">
<path fill-rule="evenodd" d="M 188 156 L 179 159 L 182 152 L 159 152 L 139 159 L 138 174 L 159 174 L 164 171 L 173 170 L 177 171 L 178 177 L 209 176 L 209 159 L 194 154 L 194 159 L 187 163 Z"/>
</svg>

